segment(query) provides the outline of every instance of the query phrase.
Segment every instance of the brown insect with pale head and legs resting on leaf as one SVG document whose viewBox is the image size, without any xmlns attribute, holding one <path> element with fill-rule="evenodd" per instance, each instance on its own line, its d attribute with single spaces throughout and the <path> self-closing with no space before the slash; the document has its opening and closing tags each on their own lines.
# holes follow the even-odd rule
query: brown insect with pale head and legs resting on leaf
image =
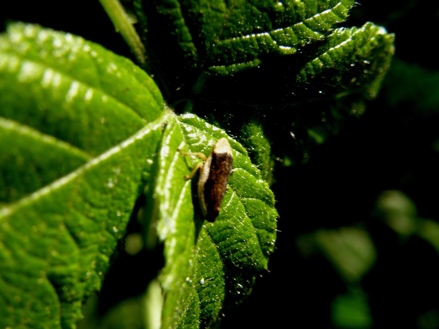
<svg viewBox="0 0 439 329">
<path fill-rule="evenodd" d="M 202 153 L 181 153 L 183 155 L 196 155 L 205 160 L 204 164 L 198 164 L 192 170 L 191 175 L 185 176 L 185 178 L 191 178 L 198 169 L 201 169 L 200 178 L 198 179 L 200 207 L 204 217 L 209 222 L 215 222 L 221 210 L 224 193 L 227 190 L 227 182 L 232 170 L 232 148 L 227 139 L 221 138 L 215 143 L 212 153 L 207 158 Z"/>
</svg>

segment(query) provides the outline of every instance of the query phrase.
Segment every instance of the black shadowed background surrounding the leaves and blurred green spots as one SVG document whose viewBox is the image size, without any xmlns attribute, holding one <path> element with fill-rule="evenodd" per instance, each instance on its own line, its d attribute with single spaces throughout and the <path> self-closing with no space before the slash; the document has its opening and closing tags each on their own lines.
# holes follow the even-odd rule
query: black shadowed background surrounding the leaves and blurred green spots
<svg viewBox="0 0 439 329">
<path fill-rule="evenodd" d="M 418 236 L 401 239 L 376 215 L 380 194 L 400 190 L 416 204 L 419 217 L 439 220 L 439 5 L 361 2 L 343 26 L 373 21 L 395 33 L 392 68 L 378 98 L 366 102 L 365 114 L 313 147 L 306 164 L 275 162 L 272 189 L 280 218 L 270 272 L 261 273 L 251 297 L 224 311 L 223 328 L 343 327 L 331 310 L 337 296 L 353 289 L 366 296 L 365 316 L 371 321 L 351 322 L 352 328 L 439 328 L 438 251 Z M 97 1 L 75 1 L 68 7 L 59 1 L 16 1 L 9 6 L 0 12 L 3 22 L 34 22 L 72 32 L 132 58 Z M 288 141 L 273 141 L 273 156 L 281 157 L 275 143 Z M 324 250 L 308 257 L 297 247 L 304 234 L 353 225 L 369 232 L 377 252 L 374 266 L 355 285 L 342 278 Z M 138 228 L 132 224 L 130 229 Z M 106 301 L 101 313 L 144 291 L 151 275 L 141 261 L 144 256 L 122 253 L 115 260 L 101 293 Z"/>
</svg>

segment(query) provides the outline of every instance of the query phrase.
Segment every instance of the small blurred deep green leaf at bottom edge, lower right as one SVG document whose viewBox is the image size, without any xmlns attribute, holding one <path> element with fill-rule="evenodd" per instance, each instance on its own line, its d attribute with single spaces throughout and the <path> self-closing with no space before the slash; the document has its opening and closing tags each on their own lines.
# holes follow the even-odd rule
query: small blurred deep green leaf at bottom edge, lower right
<svg viewBox="0 0 439 329">
<path fill-rule="evenodd" d="M 331 318 L 336 328 L 366 329 L 373 325 L 367 296 L 362 290 L 336 297 L 331 304 Z"/>
</svg>

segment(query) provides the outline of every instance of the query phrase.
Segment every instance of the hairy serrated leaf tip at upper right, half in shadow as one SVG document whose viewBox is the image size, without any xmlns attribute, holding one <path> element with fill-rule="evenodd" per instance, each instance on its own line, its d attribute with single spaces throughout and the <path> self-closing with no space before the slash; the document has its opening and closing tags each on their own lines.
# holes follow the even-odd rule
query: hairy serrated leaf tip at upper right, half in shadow
<svg viewBox="0 0 439 329">
<path fill-rule="evenodd" d="M 393 40 L 393 34 L 370 22 L 361 28 L 335 29 L 316 51 L 317 57 L 304 65 L 296 79 L 311 82 L 320 75 L 335 91 L 361 87 L 365 96 L 374 98 L 390 67 Z"/>
</svg>

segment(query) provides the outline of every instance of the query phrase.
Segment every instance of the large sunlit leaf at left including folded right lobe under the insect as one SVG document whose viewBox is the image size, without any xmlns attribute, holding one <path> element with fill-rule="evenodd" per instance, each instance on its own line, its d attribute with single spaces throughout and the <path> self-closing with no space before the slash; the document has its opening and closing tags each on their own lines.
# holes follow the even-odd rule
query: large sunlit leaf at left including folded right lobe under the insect
<svg viewBox="0 0 439 329">
<path fill-rule="evenodd" d="M 144 183 L 164 243 L 162 327 L 213 325 L 225 300 L 248 295 L 273 252 L 277 211 L 244 147 L 193 114 L 163 111 L 130 61 L 37 25 L 0 36 L 0 91 L 1 326 L 74 326 Z M 177 149 L 209 153 L 221 137 L 234 172 L 218 219 L 203 225 L 184 179 L 194 163 Z"/>
</svg>

